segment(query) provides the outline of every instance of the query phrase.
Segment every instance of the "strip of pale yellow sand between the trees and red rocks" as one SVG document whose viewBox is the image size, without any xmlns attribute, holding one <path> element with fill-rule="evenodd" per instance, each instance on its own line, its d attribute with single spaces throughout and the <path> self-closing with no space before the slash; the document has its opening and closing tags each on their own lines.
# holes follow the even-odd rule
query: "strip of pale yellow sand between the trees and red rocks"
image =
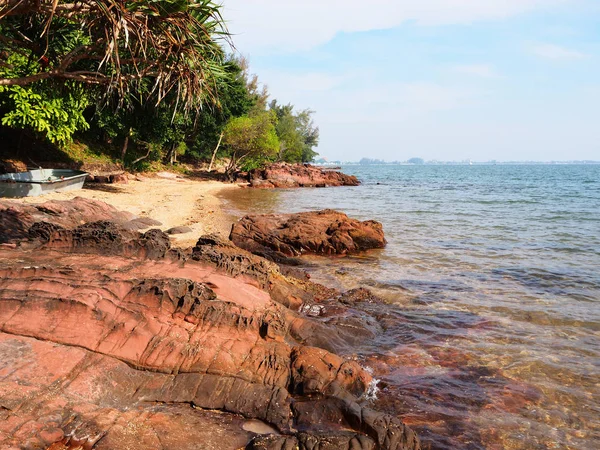
<svg viewBox="0 0 600 450">
<path fill-rule="evenodd" d="M 20 201 L 43 203 L 75 197 L 100 200 L 121 211 L 150 217 L 162 223 L 152 228 L 164 231 L 180 226 L 191 228 L 189 233 L 171 235 L 173 244 L 180 247 L 193 246 L 203 234 L 229 236 L 236 218 L 223 211 L 217 193 L 225 189 L 239 189 L 237 185 L 199 181 L 169 173 L 130 178 L 128 184 L 88 183 L 81 190 L 26 197 Z"/>
</svg>

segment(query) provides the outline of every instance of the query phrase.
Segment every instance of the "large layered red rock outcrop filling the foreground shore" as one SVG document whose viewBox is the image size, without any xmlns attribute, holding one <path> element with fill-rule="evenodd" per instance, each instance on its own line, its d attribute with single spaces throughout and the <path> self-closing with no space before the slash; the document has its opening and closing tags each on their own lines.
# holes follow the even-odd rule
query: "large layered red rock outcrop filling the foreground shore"
<svg viewBox="0 0 600 450">
<path fill-rule="evenodd" d="M 334 353 L 377 333 L 350 297 L 210 236 L 186 251 L 114 222 L 28 236 L 0 246 L 0 447 L 419 448 Z M 336 320 L 298 312 L 314 305 Z"/>
</svg>

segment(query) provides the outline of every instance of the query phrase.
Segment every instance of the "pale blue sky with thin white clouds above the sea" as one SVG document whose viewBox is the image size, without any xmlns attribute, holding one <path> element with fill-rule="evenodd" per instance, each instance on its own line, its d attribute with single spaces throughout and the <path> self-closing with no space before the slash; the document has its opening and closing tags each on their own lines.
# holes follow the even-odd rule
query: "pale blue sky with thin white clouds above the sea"
<svg viewBox="0 0 600 450">
<path fill-rule="evenodd" d="M 222 0 L 328 160 L 600 160 L 600 0 Z"/>
</svg>

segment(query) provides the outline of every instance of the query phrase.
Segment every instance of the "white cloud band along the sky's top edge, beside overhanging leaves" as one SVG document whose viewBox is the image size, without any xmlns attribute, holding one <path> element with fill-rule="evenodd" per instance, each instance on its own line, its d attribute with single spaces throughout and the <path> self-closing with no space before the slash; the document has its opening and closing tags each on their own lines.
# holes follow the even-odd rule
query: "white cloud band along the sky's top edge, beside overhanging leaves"
<svg viewBox="0 0 600 450">
<path fill-rule="evenodd" d="M 222 0 L 242 52 L 314 48 L 340 32 L 381 30 L 407 21 L 468 24 L 574 0 Z"/>
</svg>

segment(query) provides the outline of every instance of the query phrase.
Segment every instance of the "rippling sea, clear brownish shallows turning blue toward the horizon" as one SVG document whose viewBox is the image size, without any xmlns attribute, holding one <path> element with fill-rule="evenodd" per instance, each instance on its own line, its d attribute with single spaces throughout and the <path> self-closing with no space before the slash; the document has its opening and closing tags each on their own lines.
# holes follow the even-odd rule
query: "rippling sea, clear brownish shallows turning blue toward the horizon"
<svg viewBox="0 0 600 450">
<path fill-rule="evenodd" d="M 600 165 L 349 165 L 358 187 L 224 194 L 234 215 L 331 208 L 383 250 L 307 259 L 366 287 L 382 333 L 352 355 L 373 407 L 424 449 L 600 449 Z M 374 306 L 375 308 L 375 306 Z"/>
</svg>

